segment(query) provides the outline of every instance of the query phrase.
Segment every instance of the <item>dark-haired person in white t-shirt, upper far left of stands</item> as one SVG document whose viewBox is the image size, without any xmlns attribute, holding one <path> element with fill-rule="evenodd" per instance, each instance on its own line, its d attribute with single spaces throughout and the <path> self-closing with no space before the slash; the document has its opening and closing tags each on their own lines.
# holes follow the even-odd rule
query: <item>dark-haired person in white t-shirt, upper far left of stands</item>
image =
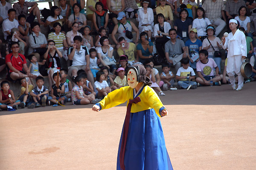
<svg viewBox="0 0 256 170">
<path fill-rule="evenodd" d="M 11 29 L 18 28 L 19 22 L 15 20 L 16 11 L 15 9 L 8 10 L 8 18 L 3 21 L 3 36 L 6 40 L 8 35 L 11 35 Z"/>
</svg>

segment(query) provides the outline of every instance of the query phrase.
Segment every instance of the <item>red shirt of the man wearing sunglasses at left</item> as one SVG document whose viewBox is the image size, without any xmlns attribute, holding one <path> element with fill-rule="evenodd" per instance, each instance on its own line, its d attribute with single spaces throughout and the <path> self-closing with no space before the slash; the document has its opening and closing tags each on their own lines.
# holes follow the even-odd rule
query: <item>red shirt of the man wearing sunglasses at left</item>
<svg viewBox="0 0 256 170">
<path fill-rule="evenodd" d="M 14 66 L 15 69 L 22 71 L 23 64 L 26 64 L 26 58 L 24 55 L 19 53 L 19 56 L 15 58 L 12 53 L 9 55 L 6 55 L 6 63 L 10 62 L 12 63 L 12 66 Z M 13 72 L 11 69 L 9 72 Z"/>
</svg>

